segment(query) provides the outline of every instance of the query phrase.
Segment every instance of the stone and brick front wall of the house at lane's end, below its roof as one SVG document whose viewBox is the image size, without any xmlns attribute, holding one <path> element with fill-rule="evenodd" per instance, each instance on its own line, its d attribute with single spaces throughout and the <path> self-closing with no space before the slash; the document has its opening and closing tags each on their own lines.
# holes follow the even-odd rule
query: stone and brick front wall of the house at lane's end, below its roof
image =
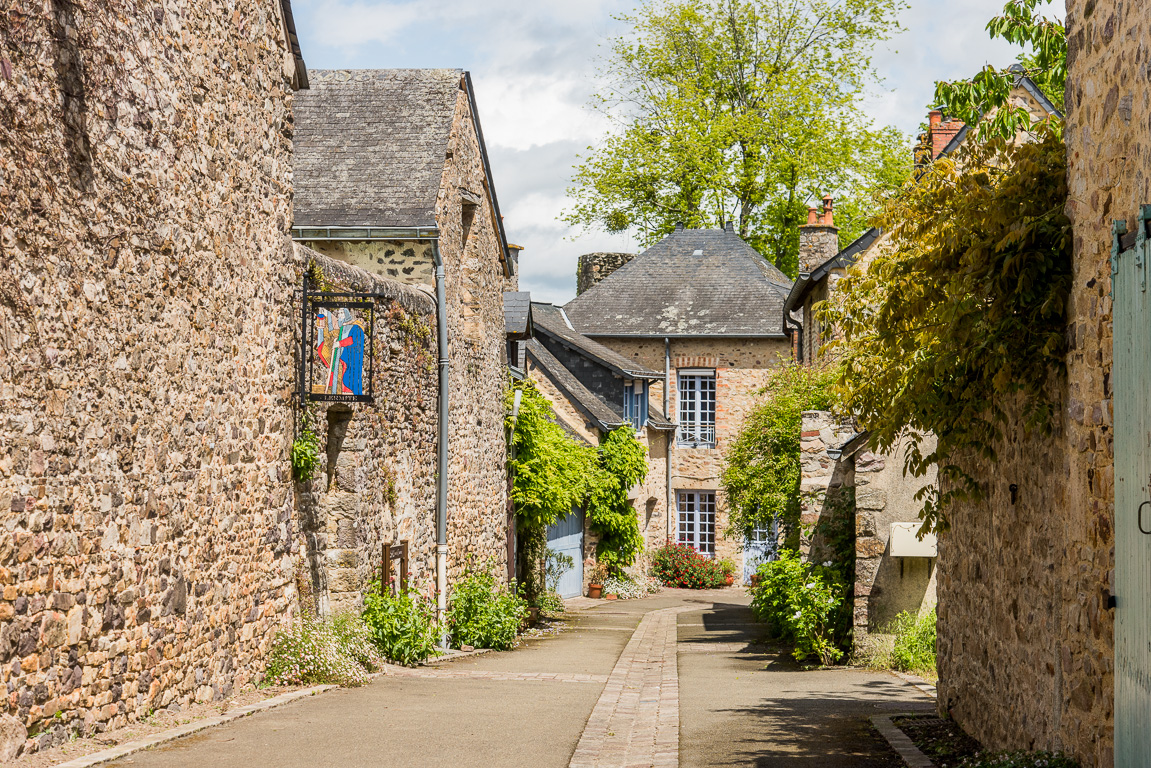
<svg viewBox="0 0 1151 768">
<path fill-rule="evenodd" d="M 662 371 L 664 368 L 664 343 L 662 339 L 597 337 L 596 341 L 642 366 Z M 672 339 L 671 340 L 671 411 L 664 409 L 663 386 L 651 387 L 650 402 L 669 416 L 676 418 L 677 371 L 680 367 L 712 367 L 716 370 L 716 447 L 672 447 L 672 491 L 716 491 L 716 556 L 733 560 L 737 568 L 742 565 L 741 539 L 724 534 L 727 527 L 727 505 L 719 489 L 723 471 L 723 451 L 735 439 L 745 415 L 756 401 L 756 391 L 762 388 L 771 368 L 791 358 L 791 345 L 786 339 Z M 666 472 L 666 465 L 661 467 Z M 648 476 L 648 485 L 655 494 L 656 512 L 662 514 L 664 534 L 676 531 L 674 510 L 668 510 L 666 474 L 661 473 L 660 492 L 655 493 L 655 470 Z M 676 504 L 672 499 L 672 505 Z M 651 527 L 648 540 L 653 541 L 660 527 Z"/>
</svg>

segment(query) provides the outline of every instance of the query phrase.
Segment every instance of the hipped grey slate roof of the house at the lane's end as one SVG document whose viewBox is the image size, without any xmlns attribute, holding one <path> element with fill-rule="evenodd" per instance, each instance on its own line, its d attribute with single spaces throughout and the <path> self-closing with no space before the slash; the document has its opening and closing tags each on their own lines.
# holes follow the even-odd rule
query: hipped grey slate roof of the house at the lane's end
<svg viewBox="0 0 1151 768">
<path fill-rule="evenodd" d="M 782 337 L 792 281 L 724 229 L 680 229 L 564 305 L 588 336 Z"/>
</svg>

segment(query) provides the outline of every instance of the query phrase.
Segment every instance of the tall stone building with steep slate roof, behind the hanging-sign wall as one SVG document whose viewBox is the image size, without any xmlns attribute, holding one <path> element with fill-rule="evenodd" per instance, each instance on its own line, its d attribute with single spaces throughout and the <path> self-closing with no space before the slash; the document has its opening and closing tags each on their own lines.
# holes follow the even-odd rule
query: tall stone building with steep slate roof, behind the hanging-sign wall
<svg viewBox="0 0 1151 768">
<path fill-rule="evenodd" d="M 448 571 L 453 578 L 468 556 L 504 571 L 512 553 L 503 302 L 517 287 L 518 249 L 503 231 L 470 76 L 313 70 L 310 81 L 295 108 L 292 234 L 333 259 L 429 292 L 439 253 L 450 371 Z M 398 535 L 422 540 L 414 530 Z M 420 562 L 432 552 L 421 548 Z"/>
</svg>

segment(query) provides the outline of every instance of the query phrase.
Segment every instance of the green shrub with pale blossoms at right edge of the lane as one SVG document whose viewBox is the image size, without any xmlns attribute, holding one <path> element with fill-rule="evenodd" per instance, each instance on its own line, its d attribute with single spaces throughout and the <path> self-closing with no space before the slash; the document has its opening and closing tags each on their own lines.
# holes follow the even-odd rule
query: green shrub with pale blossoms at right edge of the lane
<svg viewBox="0 0 1151 768">
<path fill-rule="evenodd" d="M 798 661 L 809 656 L 831 664 L 843 657 L 844 598 L 847 585 L 831 568 L 805 563 L 784 550 L 759 568 L 752 610 L 777 637 L 795 645 Z"/>
</svg>

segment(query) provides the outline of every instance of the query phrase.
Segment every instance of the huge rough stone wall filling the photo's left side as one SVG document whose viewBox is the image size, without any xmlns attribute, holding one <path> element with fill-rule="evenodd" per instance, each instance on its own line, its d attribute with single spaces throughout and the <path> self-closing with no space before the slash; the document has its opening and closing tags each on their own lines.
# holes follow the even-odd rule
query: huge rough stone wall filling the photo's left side
<svg viewBox="0 0 1151 768">
<path fill-rule="evenodd" d="M 36 748 L 258 679 L 292 610 L 291 56 L 272 1 L 5 13 L 0 682 Z"/>
</svg>

